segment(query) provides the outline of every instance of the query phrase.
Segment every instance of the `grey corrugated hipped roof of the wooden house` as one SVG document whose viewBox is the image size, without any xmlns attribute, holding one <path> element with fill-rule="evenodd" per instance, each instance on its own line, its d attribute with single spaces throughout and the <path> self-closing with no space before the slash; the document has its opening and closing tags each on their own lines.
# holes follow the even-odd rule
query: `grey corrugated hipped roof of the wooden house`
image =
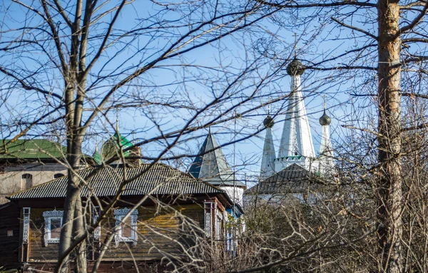
<svg viewBox="0 0 428 273">
<path fill-rule="evenodd" d="M 94 172 L 96 174 L 89 177 Z M 88 184 L 81 191 L 83 197 L 116 195 L 125 177 L 131 181 L 124 187 L 122 195 L 125 196 L 223 193 L 223 190 L 218 187 L 196 180 L 184 172 L 161 163 L 155 164 L 151 168 L 149 168 L 149 164 L 143 164 L 138 168 L 123 168 L 121 166 L 104 166 L 98 170 L 87 168 L 79 171 L 78 175 Z M 67 177 L 60 177 L 29 190 L 17 192 L 11 195 L 9 199 L 65 197 L 66 185 Z"/>
</svg>

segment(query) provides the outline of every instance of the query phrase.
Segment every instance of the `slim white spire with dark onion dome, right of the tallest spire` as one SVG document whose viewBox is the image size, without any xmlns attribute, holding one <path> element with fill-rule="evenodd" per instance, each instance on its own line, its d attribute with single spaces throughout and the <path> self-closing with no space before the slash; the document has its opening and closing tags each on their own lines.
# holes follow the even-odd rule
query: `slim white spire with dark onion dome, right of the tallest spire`
<svg viewBox="0 0 428 273">
<path fill-rule="evenodd" d="M 333 159 L 332 143 L 330 140 L 330 123 L 331 118 L 325 113 L 325 96 L 324 96 L 324 113 L 320 118 L 320 124 L 322 125 L 322 136 L 320 145 L 320 157 L 319 170 L 320 173 L 325 174 L 326 172 L 332 172 L 335 167 L 335 161 Z"/>
</svg>

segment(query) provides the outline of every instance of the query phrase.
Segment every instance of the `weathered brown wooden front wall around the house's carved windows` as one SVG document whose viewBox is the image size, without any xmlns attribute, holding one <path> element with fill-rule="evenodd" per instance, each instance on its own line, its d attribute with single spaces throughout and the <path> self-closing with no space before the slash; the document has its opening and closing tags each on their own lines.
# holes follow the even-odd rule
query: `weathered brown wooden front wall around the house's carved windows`
<svg viewBox="0 0 428 273">
<path fill-rule="evenodd" d="M 50 270 L 58 256 L 58 244 L 43 245 L 44 217 L 43 212 L 54 208 L 31 208 L 31 224 L 29 235 L 29 259 L 31 264 L 44 264 Z M 57 208 L 57 210 L 61 210 Z M 173 207 L 145 206 L 138 208 L 138 242 L 119 242 L 114 239 L 103 257 L 105 262 L 113 264 L 131 264 L 133 260 L 143 262 L 144 266 L 158 263 L 165 255 L 180 257 L 181 247 L 194 244 L 195 237 L 201 236 L 204 227 L 204 210 L 198 204 L 174 205 Z M 100 243 L 93 247 L 95 253 L 88 257 L 97 257 L 97 249 L 109 232 L 114 231 L 116 220 L 110 215 L 101 225 Z M 103 262 L 104 264 L 104 262 Z M 110 264 L 110 263 L 109 263 Z M 160 265 L 159 265 L 160 266 Z M 104 265 L 103 265 L 104 267 Z M 108 267 L 106 267 L 108 268 Z M 123 267 L 125 268 L 125 267 Z M 128 268 L 128 267 L 126 267 Z M 105 272 L 105 271 L 100 271 Z M 106 271 L 108 272 L 108 271 Z M 118 271 L 112 271 L 118 272 Z"/>
</svg>

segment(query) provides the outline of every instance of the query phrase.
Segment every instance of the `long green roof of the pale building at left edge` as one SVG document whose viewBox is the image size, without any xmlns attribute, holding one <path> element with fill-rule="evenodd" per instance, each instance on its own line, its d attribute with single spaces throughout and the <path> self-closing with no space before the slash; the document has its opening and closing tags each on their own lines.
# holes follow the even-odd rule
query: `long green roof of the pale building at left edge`
<svg viewBox="0 0 428 273">
<path fill-rule="evenodd" d="M 66 153 L 66 146 L 46 139 L 0 140 L 0 160 L 61 159 Z"/>
</svg>

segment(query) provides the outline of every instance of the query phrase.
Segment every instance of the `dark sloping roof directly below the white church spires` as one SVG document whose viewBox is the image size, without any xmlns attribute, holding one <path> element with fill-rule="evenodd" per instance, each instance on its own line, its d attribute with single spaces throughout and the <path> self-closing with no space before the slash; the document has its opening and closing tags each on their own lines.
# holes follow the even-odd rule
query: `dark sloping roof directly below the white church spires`
<svg viewBox="0 0 428 273">
<path fill-rule="evenodd" d="M 245 191 L 246 195 L 301 192 L 310 184 L 311 173 L 300 165 L 292 164 L 260 181 L 258 185 Z"/>
</svg>

